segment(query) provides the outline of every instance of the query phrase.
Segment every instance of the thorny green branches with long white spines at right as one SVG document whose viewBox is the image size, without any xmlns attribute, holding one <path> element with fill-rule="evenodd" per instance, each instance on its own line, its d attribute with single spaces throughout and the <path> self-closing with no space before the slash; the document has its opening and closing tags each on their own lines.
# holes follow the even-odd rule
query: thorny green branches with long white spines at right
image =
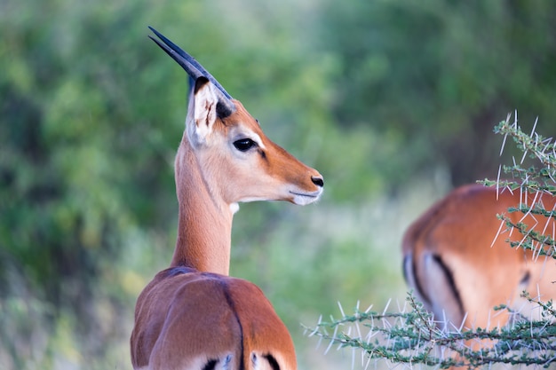
<svg viewBox="0 0 556 370">
<path fill-rule="evenodd" d="M 508 137 L 512 138 L 523 152 L 523 157 L 519 162 L 514 161 L 511 166 L 504 166 L 504 172 L 510 174 L 512 180 L 501 181 L 498 174 L 496 180 L 484 180 L 481 183 L 508 187 L 512 190 L 521 189 L 522 192 L 556 195 L 555 141 L 538 135 L 535 128 L 530 135 L 525 134 L 517 124 L 517 115 L 513 123 L 510 122 L 510 116 L 504 122 L 500 122 L 495 127 L 495 132 L 504 135 L 504 144 Z M 527 154 L 530 159 L 538 161 L 540 166 L 525 167 Z M 508 210 L 556 218 L 553 209 L 542 209 L 538 205 L 535 208 L 520 206 Z M 499 215 L 499 218 L 505 221 L 508 228 L 517 229 L 524 235 L 520 242 L 511 243 L 512 247 L 530 249 L 536 256 L 554 256 L 555 242 L 551 235 L 530 232 L 527 224 L 513 223 L 504 215 Z M 457 329 L 454 325 L 439 326 L 438 321 L 435 321 L 423 305 L 409 294 L 407 310 L 381 313 L 360 311 L 356 308 L 350 315 L 341 310 L 340 319 L 319 321 L 316 327 L 310 329 L 310 335 L 330 341 L 330 345 L 362 350 L 367 361 L 385 359 L 394 364 L 421 364 L 441 368 L 476 368 L 496 363 L 549 367 L 556 362 L 556 310 L 552 301 L 544 303 L 525 292 L 522 296 L 528 299 L 529 303 L 538 306 L 541 319 L 520 316 L 508 326 L 492 330 L 481 327 Z M 509 308 L 501 305 L 496 310 Z M 365 328 L 364 333 L 361 327 Z M 483 345 L 477 350 L 472 350 L 465 345 L 465 341 L 469 340 L 486 340 L 494 342 L 495 345 Z"/>
</svg>

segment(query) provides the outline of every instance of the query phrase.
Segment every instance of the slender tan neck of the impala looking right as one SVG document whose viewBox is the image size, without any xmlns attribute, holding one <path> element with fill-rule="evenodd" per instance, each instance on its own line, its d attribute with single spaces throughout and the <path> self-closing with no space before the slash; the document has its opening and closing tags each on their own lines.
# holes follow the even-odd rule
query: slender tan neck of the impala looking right
<svg viewBox="0 0 556 370">
<path fill-rule="evenodd" d="M 176 157 L 179 225 L 171 266 L 228 275 L 234 210 L 210 187 L 186 135 Z"/>
</svg>

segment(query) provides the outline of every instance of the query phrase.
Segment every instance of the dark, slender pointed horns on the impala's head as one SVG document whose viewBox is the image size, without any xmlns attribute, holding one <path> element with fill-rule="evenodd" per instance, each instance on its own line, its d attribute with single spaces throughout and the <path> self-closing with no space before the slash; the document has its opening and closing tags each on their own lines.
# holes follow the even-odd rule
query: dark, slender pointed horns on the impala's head
<svg viewBox="0 0 556 370">
<path fill-rule="evenodd" d="M 170 40 L 164 37 L 163 34 L 155 30 L 155 28 L 152 28 L 150 26 L 148 28 L 162 40 L 162 43 L 156 40 L 155 37 L 153 37 L 152 35 L 149 35 L 148 37 L 153 40 L 158 46 L 160 46 L 163 51 L 166 51 L 166 53 L 170 55 L 172 59 L 176 60 L 178 64 L 186 70 L 187 74 L 190 75 L 191 78 L 196 81 L 199 77 L 204 77 L 208 79 L 210 83 L 217 87 L 217 91 L 215 92 L 218 96 L 217 111 L 220 117 L 226 117 L 235 112 L 235 105 L 232 102 L 232 97 L 230 96 L 230 94 L 227 93 L 222 85 L 218 83 L 218 81 L 216 81 L 216 78 L 210 75 L 210 73 L 207 72 L 207 70 L 204 69 L 203 66 L 201 66 L 201 64 L 199 64 L 199 62 L 195 60 L 195 58 L 187 54 L 186 51 L 181 50 L 178 45 L 172 43 Z"/>
</svg>

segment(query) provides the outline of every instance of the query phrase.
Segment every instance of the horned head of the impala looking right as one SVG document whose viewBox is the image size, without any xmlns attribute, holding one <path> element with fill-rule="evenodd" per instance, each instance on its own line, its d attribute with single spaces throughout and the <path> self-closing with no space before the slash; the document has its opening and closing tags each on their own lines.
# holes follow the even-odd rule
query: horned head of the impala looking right
<svg viewBox="0 0 556 370">
<path fill-rule="evenodd" d="M 176 182 L 182 186 L 183 160 L 193 152 L 212 196 L 228 205 L 239 201 L 290 201 L 306 205 L 319 199 L 322 176 L 277 146 L 242 104 L 195 59 L 150 28 L 151 37 L 191 77 L 186 133 L 176 159 Z M 178 190 L 179 191 L 179 190 Z"/>
</svg>

